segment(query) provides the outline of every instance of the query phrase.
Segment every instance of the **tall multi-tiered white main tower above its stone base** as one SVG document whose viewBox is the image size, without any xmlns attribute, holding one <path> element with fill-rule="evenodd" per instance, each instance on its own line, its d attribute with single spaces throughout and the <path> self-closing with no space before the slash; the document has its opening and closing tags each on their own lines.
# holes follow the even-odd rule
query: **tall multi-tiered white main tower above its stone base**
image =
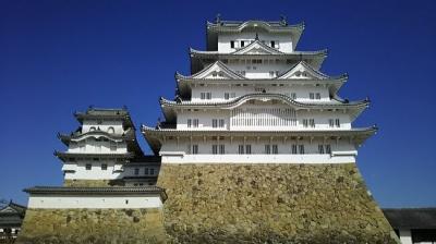
<svg viewBox="0 0 436 244">
<path fill-rule="evenodd" d="M 207 50 L 191 49 L 191 75 L 160 99 L 166 121 L 143 126 L 162 163 L 355 162 L 376 127 L 352 122 L 368 100 L 337 93 L 347 74 L 319 71 L 327 56 L 296 51 L 303 24 L 207 23 Z"/>
</svg>

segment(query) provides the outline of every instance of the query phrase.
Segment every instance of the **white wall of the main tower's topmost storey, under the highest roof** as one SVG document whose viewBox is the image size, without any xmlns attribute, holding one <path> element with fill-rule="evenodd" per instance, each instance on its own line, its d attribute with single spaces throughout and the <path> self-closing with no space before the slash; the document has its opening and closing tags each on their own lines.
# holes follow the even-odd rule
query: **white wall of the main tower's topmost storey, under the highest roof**
<svg viewBox="0 0 436 244">
<path fill-rule="evenodd" d="M 256 33 L 258 35 L 259 40 L 265 40 L 266 45 L 270 45 L 270 40 L 276 40 L 279 42 L 279 51 L 282 52 L 292 52 L 292 36 L 290 34 L 269 34 L 266 32 L 262 32 L 262 29 L 257 30 L 243 30 L 242 33 L 235 34 L 220 34 L 218 35 L 218 51 L 222 53 L 233 52 L 237 49 L 230 48 L 230 40 L 235 40 L 240 42 L 241 40 L 245 40 L 245 47 L 250 45 L 250 41 L 254 41 L 256 37 Z M 239 47 L 239 45 L 237 46 Z"/>
</svg>

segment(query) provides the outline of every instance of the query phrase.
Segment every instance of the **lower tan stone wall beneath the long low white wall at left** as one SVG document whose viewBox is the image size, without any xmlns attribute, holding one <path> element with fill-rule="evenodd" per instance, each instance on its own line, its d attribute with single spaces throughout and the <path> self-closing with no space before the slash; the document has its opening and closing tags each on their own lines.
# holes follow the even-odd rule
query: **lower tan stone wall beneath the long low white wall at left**
<svg viewBox="0 0 436 244">
<path fill-rule="evenodd" d="M 27 209 L 16 243 L 165 243 L 160 209 Z"/>
</svg>

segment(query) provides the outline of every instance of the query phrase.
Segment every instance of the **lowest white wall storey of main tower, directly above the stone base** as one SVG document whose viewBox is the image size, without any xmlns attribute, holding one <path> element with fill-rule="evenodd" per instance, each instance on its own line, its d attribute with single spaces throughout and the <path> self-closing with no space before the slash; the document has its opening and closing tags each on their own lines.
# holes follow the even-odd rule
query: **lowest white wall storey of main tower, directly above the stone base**
<svg viewBox="0 0 436 244">
<path fill-rule="evenodd" d="M 190 152 L 191 145 L 198 145 L 198 155 Z M 265 145 L 277 145 L 277 155 L 266 155 Z M 319 154 L 318 145 L 330 145 L 330 154 Z M 225 155 L 213 155 L 213 145 L 225 145 Z M 239 145 L 251 145 L 251 155 L 239 155 Z M 304 145 L 304 155 L 291 154 L 292 145 Z M 310 141 L 294 141 L 276 137 L 272 139 L 247 137 L 245 142 L 242 138 L 234 138 L 230 142 L 229 138 L 223 139 L 207 139 L 193 138 L 192 143 L 189 139 L 168 139 L 161 147 L 160 156 L 162 162 L 167 163 L 208 163 L 208 162 L 223 162 L 223 163 L 347 163 L 355 162 L 358 150 L 354 145 L 348 141 L 329 141 L 326 142 L 315 139 Z"/>
</svg>

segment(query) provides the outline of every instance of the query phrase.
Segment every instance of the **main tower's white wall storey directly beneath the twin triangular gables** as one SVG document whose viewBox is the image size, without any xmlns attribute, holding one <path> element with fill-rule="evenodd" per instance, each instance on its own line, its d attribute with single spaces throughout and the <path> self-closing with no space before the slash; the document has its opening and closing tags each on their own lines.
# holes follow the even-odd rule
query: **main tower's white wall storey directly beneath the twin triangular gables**
<svg viewBox="0 0 436 244">
<path fill-rule="evenodd" d="M 272 85 L 249 85 L 242 86 L 234 81 L 234 84 L 204 84 L 204 86 L 193 86 L 191 100 L 192 101 L 226 101 L 225 93 L 234 93 L 235 97 L 241 97 L 247 94 L 259 93 L 258 90 L 265 89 L 266 93 L 270 94 L 282 94 L 290 96 L 291 93 L 295 93 L 298 101 L 310 101 L 310 102 L 328 102 L 330 101 L 330 95 L 327 87 L 314 86 L 314 85 L 299 85 L 299 84 L 279 84 L 277 81 L 275 86 Z M 201 99 L 201 93 L 211 93 L 211 99 Z M 319 93 L 320 99 L 310 99 L 310 93 Z"/>
</svg>

